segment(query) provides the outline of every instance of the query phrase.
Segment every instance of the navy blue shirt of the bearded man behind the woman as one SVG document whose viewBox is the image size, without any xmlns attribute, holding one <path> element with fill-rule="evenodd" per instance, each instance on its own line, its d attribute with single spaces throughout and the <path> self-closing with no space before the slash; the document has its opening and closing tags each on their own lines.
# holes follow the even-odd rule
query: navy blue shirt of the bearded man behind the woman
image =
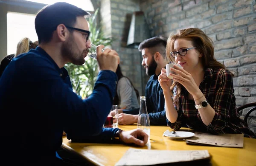
<svg viewBox="0 0 256 166">
<path fill-rule="evenodd" d="M 166 112 L 164 110 L 164 96 L 157 75 L 152 75 L 145 87 L 145 96 L 149 121 L 151 125 L 167 125 Z M 123 110 L 123 113 L 139 114 L 140 108 Z"/>
</svg>

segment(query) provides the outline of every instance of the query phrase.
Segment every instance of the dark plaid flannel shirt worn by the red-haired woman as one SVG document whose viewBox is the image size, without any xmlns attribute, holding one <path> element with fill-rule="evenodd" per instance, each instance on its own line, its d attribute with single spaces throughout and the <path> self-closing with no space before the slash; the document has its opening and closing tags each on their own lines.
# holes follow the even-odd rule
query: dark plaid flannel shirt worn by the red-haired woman
<svg viewBox="0 0 256 166">
<path fill-rule="evenodd" d="M 179 110 L 177 121 L 167 124 L 172 129 L 180 129 L 182 122 L 185 122 L 189 128 L 200 132 L 217 133 L 243 133 L 245 137 L 255 137 L 255 134 L 246 126 L 244 120 L 236 108 L 236 97 L 234 96 L 233 79 L 230 71 L 214 68 L 207 68 L 204 74 L 204 80 L 199 89 L 209 102 L 209 105 L 215 110 L 215 116 L 212 122 L 206 126 L 198 110 L 195 108 L 195 101 L 188 99 L 188 91 L 182 87 L 179 98 Z M 176 95 L 174 89 L 174 96 Z M 174 104 L 177 110 L 177 106 Z"/>
</svg>

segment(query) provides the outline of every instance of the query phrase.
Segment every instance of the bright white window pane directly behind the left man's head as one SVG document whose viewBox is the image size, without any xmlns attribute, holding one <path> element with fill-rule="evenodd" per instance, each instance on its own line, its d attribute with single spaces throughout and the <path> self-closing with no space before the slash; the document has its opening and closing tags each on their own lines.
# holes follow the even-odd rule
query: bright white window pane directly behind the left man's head
<svg viewBox="0 0 256 166">
<path fill-rule="evenodd" d="M 7 55 L 16 53 L 17 43 L 23 37 L 32 42 L 38 40 L 35 32 L 35 15 L 8 12 L 7 13 Z"/>
</svg>

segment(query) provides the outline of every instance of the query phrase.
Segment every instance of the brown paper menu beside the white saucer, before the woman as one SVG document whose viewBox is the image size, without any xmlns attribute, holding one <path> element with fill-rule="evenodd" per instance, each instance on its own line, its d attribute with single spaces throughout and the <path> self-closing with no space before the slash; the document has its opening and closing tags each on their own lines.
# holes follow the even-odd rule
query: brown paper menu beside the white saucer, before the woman
<svg viewBox="0 0 256 166">
<path fill-rule="evenodd" d="M 218 134 L 195 132 L 194 137 L 186 139 L 187 143 L 207 144 L 223 147 L 244 146 L 244 134 Z"/>
</svg>

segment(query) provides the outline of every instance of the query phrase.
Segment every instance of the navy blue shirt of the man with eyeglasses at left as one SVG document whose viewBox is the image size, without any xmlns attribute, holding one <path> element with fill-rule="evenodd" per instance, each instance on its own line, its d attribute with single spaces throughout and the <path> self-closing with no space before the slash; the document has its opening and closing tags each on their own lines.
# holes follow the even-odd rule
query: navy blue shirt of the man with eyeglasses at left
<svg viewBox="0 0 256 166">
<path fill-rule="evenodd" d="M 116 82 L 116 73 L 100 71 L 93 93 L 83 100 L 73 92 L 67 70 L 42 48 L 13 59 L 0 78 L 2 157 L 25 165 L 55 162 L 63 130 L 71 140 L 112 143 L 119 129 L 102 126 Z"/>
</svg>

